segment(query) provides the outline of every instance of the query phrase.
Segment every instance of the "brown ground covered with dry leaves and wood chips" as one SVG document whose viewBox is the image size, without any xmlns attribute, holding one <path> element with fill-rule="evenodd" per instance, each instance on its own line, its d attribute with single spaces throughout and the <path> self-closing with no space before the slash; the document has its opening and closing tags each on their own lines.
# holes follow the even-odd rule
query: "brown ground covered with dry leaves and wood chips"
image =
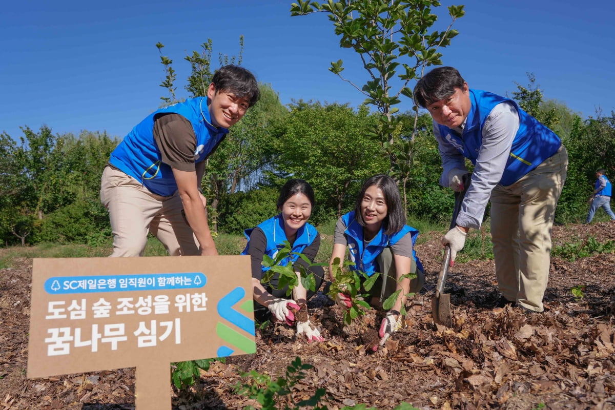
<svg viewBox="0 0 615 410">
<path fill-rule="evenodd" d="M 614 231 L 615 223 L 555 226 L 554 245 L 605 242 Z M 360 333 L 379 318 L 343 328 L 338 307 L 320 295 L 309 313 L 324 342 L 308 344 L 283 325 L 257 330 L 257 353 L 214 363 L 193 388 L 173 390 L 173 409 L 258 408 L 234 393 L 247 381 L 240 373 L 279 376 L 296 357 L 314 368 L 295 386 L 291 406 L 325 388 L 329 409 L 402 401 L 419 409 L 615 409 L 615 254 L 552 258 L 543 313 L 494 307 L 493 261 L 458 262 L 445 290 L 454 325 L 444 328 L 431 317 L 442 249 L 431 236 L 416 247 L 426 286 L 408 301 L 408 327 L 377 352 L 366 353 Z M 133 409 L 134 369 L 26 378 L 31 272 L 31 259 L 0 270 L 0 410 Z M 580 300 L 571 293 L 577 285 L 585 286 Z"/>
</svg>

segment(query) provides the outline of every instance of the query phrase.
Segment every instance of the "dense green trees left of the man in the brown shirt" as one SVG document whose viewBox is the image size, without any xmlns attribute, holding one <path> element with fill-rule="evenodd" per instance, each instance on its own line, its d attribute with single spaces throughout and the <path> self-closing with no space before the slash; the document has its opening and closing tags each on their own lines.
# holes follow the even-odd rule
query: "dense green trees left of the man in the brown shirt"
<svg viewBox="0 0 615 410">
<path fill-rule="evenodd" d="M 53 135 L 23 127 L 0 138 L 0 235 L 4 243 L 100 242 L 110 234 L 100 176 L 117 140 L 105 133 Z"/>
</svg>

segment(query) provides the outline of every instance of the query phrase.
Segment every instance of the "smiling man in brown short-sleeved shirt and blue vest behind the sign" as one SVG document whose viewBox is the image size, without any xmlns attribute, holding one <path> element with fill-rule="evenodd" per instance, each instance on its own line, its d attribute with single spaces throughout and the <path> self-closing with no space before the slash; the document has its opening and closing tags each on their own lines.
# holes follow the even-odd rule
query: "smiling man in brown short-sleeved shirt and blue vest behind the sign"
<svg viewBox="0 0 615 410">
<path fill-rule="evenodd" d="M 143 256 L 148 232 L 171 255 L 218 254 L 200 190 L 205 159 L 259 97 L 250 71 L 224 66 L 207 97 L 159 109 L 124 137 L 101 178 L 111 256 Z"/>
</svg>

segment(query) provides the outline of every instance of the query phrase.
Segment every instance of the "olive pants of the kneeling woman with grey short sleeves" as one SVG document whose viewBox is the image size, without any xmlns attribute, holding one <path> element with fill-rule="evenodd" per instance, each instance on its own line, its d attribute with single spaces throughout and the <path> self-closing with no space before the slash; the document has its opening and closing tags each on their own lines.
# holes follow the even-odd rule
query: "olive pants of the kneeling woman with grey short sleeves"
<svg viewBox="0 0 615 410">
<path fill-rule="evenodd" d="M 371 299 L 372 304 L 382 306 L 397 289 L 397 270 L 395 269 L 395 259 L 391 248 L 384 248 L 381 254 L 376 257 L 378 266 L 383 271 L 383 274 L 376 279 L 371 292 L 374 295 Z M 408 272 L 407 272 L 408 273 Z M 416 278 L 410 280 L 410 293 L 418 293 L 425 285 L 425 274 L 423 270 L 416 267 L 416 261 L 412 259 L 410 273 L 416 274 Z"/>
</svg>

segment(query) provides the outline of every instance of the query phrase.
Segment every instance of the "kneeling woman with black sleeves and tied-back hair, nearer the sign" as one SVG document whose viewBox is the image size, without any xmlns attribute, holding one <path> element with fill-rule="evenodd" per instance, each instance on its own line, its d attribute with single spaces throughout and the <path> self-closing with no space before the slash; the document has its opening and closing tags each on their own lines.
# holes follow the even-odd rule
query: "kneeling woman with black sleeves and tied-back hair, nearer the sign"
<svg viewBox="0 0 615 410">
<path fill-rule="evenodd" d="M 277 251 L 284 247 L 284 241 L 290 242 L 293 252 L 303 253 L 311 262 L 320 248 L 320 235 L 315 227 L 308 224 L 314 207 L 314 190 L 303 179 L 290 179 L 280 189 L 277 200 L 277 210 L 280 213 L 271 219 L 267 219 L 253 229 L 246 229 L 245 236 L 248 244 L 242 254 L 250 254 L 252 257 L 252 285 L 254 291 L 255 310 L 257 320 L 265 321 L 271 315 L 287 325 L 296 322 L 297 334 L 305 334 L 308 342 L 323 341 L 320 332 L 308 320 L 295 320 L 293 309 L 299 310 L 300 304 L 306 304 L 315 292 L 308 291 L 301 282 L 293 288 L 293 299 L 287 299 L 288 286 L 276 289 L 279 274 L 275 274 L 271 283 L 263 286 L 261 279 L 269 267 L 262 266 L 263 255 L 267 254 L 274 258 Z M 290 255 L 281 263 L 293 263 L 295 272 L 299 275 L 298 265 L 308 268 L 303 259 L 298 255 Z M 316 280 L 315 290 L 322 285 L 324 271 L 321 266 L 311 267 L 309 270 Z"/>
</svg>

